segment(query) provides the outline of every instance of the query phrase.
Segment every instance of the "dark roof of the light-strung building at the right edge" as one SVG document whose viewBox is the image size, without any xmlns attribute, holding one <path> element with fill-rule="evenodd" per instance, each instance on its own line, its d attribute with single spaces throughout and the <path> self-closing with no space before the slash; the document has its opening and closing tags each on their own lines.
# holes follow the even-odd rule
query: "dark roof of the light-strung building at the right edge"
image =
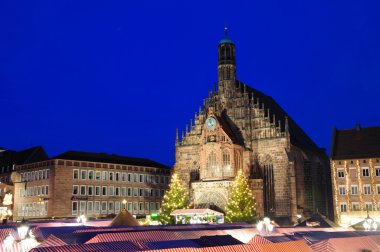
<svg viewBox="0 0 380 252">
<path fill-rule="evenodd" d="M 332 159 L 380 157 L 380 126 L 333 130 Z"/>
</svg>

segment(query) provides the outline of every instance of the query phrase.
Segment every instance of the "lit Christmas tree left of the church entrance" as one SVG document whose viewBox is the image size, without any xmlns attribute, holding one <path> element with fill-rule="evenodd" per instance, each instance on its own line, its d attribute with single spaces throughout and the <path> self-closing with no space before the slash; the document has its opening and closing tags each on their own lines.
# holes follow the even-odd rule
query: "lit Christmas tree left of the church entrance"
<svg viewBox="0 0 380 252">
<path fill-rule="evenodd" d="M 165 193 L 159 211 L 159 221 L 162 224 L 175 224 L 174 216 L 170 214 L 176 209 L 187 208 L 188 195 L 176 173 L 173 174 L 169 190 Z"/>
</svg>

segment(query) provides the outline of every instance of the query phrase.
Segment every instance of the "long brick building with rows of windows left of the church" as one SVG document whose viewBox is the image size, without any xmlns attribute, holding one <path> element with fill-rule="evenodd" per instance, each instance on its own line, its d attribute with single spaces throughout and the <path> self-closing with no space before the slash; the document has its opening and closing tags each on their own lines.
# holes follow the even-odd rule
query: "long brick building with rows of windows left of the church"
<svg viewBox="0 0 380 252">
<path fill-rule="evenodd" d="M 68 151 L 16 166 L 14 219 L 106 217 L 160 208 L 170 168 L 155 161 Z"/>
</svg>

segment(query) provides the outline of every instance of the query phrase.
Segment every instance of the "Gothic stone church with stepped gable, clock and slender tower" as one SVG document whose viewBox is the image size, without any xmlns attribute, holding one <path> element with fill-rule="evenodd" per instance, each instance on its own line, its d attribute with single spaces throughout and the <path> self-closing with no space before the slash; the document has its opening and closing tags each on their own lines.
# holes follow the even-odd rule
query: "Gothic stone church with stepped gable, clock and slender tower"
<svg viewBox="0 0 380 252">
<path fill-rule="evenodd" d="M 176 172 L 195 208 L 224 211 L 239 170 L 249 180 L 258 216 L 288 219 L 331 214 L 331 181 L 319 148 L 276 103 L 236 77 L 235 43 L 218 45 L 218 84 L 190 127 L 176 136 Z"/>
</svg>

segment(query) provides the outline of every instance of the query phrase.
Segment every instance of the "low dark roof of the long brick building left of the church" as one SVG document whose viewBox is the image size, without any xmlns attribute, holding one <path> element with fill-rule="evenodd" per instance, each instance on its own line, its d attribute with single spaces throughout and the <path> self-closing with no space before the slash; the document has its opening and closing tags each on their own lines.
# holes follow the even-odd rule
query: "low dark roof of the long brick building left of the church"
<svg viewBox="0 0 380 252">
<path fill-rule="evenodd" d="M 116 154 L 107 154 L 107 153 L 67 151 L 58 156 L 53 157 L 52 159 L 67 159 L 67 160 L 77 160 L 77 161 L 126 164 L 126 165 L 137 165 L 137 166 L 170 169 L 170 167 L 164 164 L 158 163 L 156 161 L 150 160 L 150 159 L 119 156 Z"/>
</svg>

